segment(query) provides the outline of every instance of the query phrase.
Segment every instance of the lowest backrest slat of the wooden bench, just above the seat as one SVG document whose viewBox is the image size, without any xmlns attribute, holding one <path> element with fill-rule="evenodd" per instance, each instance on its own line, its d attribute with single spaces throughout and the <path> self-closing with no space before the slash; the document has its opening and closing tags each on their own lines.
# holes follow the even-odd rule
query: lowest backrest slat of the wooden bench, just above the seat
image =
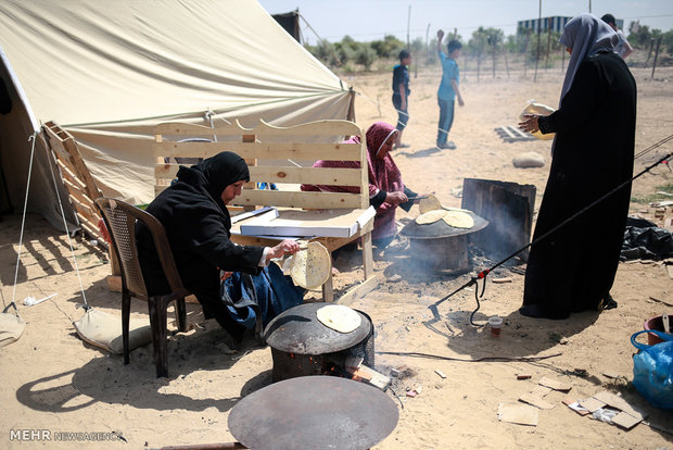
<svg viewBox="0 0 673 450">
<path fill-rule="evenodd" d="M 358 209 L 361 207 L 361 197 L 363 196 L 359 193 L 344 192 L 243 189 L 241 195 L 233 200 L 233 203 L 241 205 L 303 208 L 310 210 Z"/>
</svg>

